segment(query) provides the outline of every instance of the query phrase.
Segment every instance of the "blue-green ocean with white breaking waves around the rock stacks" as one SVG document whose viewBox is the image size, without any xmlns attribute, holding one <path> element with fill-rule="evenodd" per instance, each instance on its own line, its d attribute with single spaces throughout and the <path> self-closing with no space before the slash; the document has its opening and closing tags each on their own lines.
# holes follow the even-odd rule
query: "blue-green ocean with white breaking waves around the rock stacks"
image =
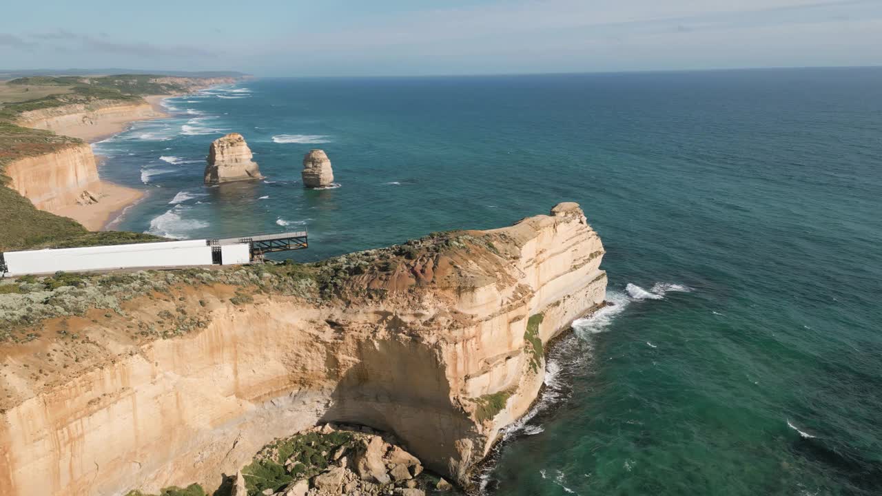
<svg viewBox="0 0 882 496">
<path fill-rule="evenodd" d="M 484 494 L 882 494 L 882 69 L 254 79 L 94 145 L 116 229 L 323 259 L 576 201 L 608 299 Z M 266 179 L 205 187 L 241 132 Z M 322 148 L 340 188 L 306 191 Z"/>
</svg>

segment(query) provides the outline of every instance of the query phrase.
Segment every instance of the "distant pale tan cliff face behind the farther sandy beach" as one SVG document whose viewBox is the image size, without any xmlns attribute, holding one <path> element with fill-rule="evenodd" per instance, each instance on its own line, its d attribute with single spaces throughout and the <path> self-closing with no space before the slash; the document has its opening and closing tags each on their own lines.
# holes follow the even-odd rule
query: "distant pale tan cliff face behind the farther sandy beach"
<svg viewBox="0 0 882 496">
<path fill-rule="evenodd" d="M 155 119 L 164 116 L 153 109 L 146 101 L 92 101 L 71 103 L 50 109 L 24 112 L 16 119 L 16 124 L 34 129 L 46 129 L 56 134 L 64 134 L 79 139 L 92 139 L 95 128 L 101 124 L 124 124 Z M 114 129 L 113 133 L 118 132 Z"/>
</svg>

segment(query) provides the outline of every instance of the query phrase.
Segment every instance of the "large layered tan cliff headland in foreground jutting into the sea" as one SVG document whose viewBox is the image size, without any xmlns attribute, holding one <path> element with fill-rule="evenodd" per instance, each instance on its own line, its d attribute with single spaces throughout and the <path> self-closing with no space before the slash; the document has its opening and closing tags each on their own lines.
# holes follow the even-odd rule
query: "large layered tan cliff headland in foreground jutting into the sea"
<svg viewBox="0 0 882 496">
<path fill-rule="evenodd" d="M 232 304 L 243 289 L 179 285 L 45 321 L 43 336 L 79 329 L 78 348 L 0 348 L 0 493 L 216 487 L 268 441 L 328 421 L 393 432 L 465 481 L 534 401 L 543 345 L 603 304 L 602 254 L 579 206 L 561 204 L 341 257 L 330 299 L 261 290 Z M 161 326 L 163 311 L 198 329 L 138 339 L 133 324 Z"/>
</svg>

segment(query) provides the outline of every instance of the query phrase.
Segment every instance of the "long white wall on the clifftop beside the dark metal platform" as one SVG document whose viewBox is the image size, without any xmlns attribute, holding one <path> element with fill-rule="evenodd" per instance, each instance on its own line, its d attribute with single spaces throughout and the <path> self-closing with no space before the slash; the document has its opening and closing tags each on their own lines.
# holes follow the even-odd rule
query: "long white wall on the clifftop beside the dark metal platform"
<svg viewBox="0 0 882 496">
<path fill-rule="evenodd" d="M 249 244 L 221 246 L 224 265 L 250 262 Z M 212 265 L 212 247 L 205 239 L 163 243 L 117 244 L 57 250 L 5 252 L 10 275 L 54 274 L 116 268 Z"/>
</svg>

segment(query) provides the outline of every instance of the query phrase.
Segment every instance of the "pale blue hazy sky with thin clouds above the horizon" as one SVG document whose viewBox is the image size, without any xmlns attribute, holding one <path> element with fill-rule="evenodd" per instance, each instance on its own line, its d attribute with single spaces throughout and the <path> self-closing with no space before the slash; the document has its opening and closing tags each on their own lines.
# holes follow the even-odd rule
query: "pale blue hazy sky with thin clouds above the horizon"
<svg viewBox="0 0 882 496">
<path fill-rule="evenodd" d="M 880 65 L 882 0 L 8 2 L 0 69 L 263 76 Z"/>
</svg>

